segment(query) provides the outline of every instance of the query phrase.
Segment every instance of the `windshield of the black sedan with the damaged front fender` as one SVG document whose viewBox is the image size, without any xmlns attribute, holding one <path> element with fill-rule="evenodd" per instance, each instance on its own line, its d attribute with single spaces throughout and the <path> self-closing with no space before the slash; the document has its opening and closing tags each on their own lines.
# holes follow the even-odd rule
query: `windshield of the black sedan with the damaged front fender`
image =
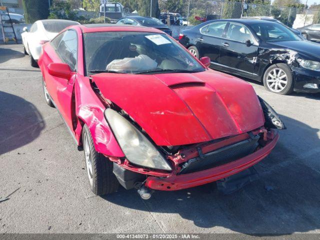
<svg viewBox="0 0 320 240">
<path fill-rule="evenodd" d="M 251 24 L 255 33 L 264 41 L 297 41 L 301 40 L 286 26 L 279 23 Z"/>
</svg>

